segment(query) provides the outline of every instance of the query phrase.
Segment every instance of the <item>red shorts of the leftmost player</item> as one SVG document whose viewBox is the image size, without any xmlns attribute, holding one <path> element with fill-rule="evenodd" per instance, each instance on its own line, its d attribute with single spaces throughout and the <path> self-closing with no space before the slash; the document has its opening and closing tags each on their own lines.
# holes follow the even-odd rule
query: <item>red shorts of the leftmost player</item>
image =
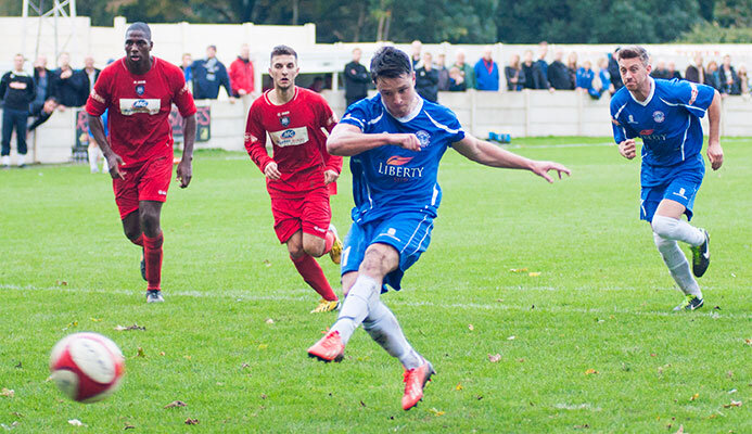
<svg viewBox="0 0 752 434">
<path fill-rule="evenodd" d="M 173 158 L 153 158 L 141 166 L 120 171 L 124 171 L 125 179 L 112 180 L 120 219 L 137 210 L 139 201 L 167 201 L 167 189 L 173 177 Z"/>
</svg>

